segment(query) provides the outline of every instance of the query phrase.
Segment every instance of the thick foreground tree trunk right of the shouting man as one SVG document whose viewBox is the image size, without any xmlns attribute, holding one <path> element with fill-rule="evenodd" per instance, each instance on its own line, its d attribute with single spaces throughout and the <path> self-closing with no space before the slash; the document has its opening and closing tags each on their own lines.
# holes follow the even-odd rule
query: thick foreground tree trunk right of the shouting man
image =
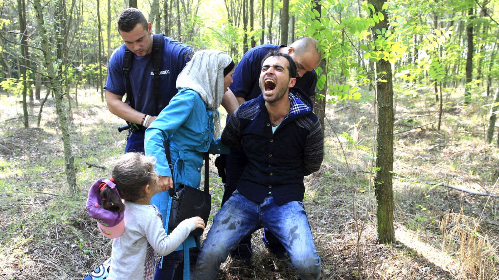
<svg viewBox="0 0 499 280">
<path fill-rule="evenodd" d="M 368 0 L 374 6 L 376 12 L 382 12 L 385 19 L 376 23 L 373 38 L 377 38 L 376 30 L 388 26 L 388 15 L 381 7 L 386 0 Z M 379 35 L 383 36 L 383 35 Z M 392 65 L 390 62 L 380 59 L 376 62 L 376 101 L 378 110 L 377 133 L 376 133 L 376 175 L 374 177 L 374 191 L 376 196 L 376 218 L 378 242 L 380 244 L 395 241 L 393 227 L 393 85 Z M 386 74 L 381 74 L 386 72 Z M 384 79 L 387 82 L 381 82 Z"/>
</svg>

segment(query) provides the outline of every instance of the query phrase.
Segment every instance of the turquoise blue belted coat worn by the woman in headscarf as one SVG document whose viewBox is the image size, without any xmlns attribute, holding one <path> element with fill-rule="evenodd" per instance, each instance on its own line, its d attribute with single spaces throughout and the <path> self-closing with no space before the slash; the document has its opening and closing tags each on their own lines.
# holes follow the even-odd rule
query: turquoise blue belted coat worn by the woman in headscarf
<svg viewBox="0 0 499 280">
<path fill-rule="evenodd" d="M 166 139 L 162 132 L 170 140 L 173 176 L 165 156 L 163 141 Z M 208 151 L 213 133 L 213 112 L 207 110 L 197 92 L 181 89 L 146 130 L 145 153 L 156 157 L 157 174 L 173 177 L 176 188 L 181 184 L 199 188 L 203 167 L 202 153 Z M 165 229 L 168 229 L 170 203 L 168 191 L 158 193 L 151 199 L 151 204 L 156 205 L 163 215 Z M 189 236 L 176 251 L 182 250 L 183 246 L 196 247 L 196 240 Z"/>
</svg>

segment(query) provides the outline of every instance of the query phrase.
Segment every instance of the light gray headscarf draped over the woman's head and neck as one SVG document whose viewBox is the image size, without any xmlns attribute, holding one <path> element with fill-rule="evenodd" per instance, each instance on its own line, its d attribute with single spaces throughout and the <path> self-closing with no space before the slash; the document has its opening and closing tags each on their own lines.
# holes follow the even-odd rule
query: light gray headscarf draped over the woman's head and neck
<svg viewBox="0 0 499 280">
<path fill-rule="evenodd" d="M 220 50 L 197 51 L 177 77 L 177 88 L 193 89 L 206 108 L 215 111 L 224 98 L 224 68 L 231 61 L 231 56 Z"/>
</svg>

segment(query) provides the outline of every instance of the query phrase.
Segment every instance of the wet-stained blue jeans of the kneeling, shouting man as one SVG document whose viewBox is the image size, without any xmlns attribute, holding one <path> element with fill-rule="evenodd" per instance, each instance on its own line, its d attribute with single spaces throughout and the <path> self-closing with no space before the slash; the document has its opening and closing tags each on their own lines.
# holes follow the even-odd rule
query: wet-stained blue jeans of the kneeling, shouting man
<svg viewBox="0 0 499 280">
<path fill-rule="evenodd" d="M 268 228 L 282 243 L 302 280 L 319 279 L 320 258 L 303 203 L 291 201 L 278 205 L 272 195 L 267 195 L 262 203 L 256 203 L 238 191 L 213 219 L 196 263 L 194 279 L 216 279 L 220 264 L 229 252 L 246 235 L 262 227 Z"/>
</svg>

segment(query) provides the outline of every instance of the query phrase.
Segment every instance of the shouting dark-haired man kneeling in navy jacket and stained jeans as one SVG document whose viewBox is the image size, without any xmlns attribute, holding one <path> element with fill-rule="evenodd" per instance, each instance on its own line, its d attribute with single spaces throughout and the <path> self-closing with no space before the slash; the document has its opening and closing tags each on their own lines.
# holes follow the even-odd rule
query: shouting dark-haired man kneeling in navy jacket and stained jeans
<svg viewBox="0 0 499 280">
<path fill-rule="evenodd" d="M 268 53 L 261 64 L 260 96 L 229 119 L 222 142 L 243 149 L 249 163 L 237 190 L 214 218 L 195 279 L 216 279 L 229 252 L 262 227 L 283 244 L 301 279 L 320 277 L 320 258 L 302 200 L 303 177 L 319 169 L 324 139 L 313 103 L 293 87 L 296 76 L 289 55 Z"/>
</svg>

